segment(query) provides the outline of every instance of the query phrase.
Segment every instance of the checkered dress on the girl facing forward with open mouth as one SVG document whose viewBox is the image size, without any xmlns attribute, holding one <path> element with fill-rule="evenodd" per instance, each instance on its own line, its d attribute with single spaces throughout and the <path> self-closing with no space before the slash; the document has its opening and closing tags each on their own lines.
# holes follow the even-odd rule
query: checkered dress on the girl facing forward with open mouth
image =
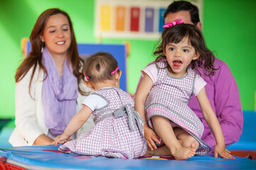
<svg viewBox="0 0 256 170">
<path fill-rule="evenodd" d="M 159 62 L 159 68 L 166 66 L 165 62 Z M 183 77 L 171 77 L 168 69 L 158 68 L 158 79 L 149 91 L 145 101 L 146 121 L 153 128 L 151 117 L 161 115 L 171 120 L 174 126 L 180 126 L 199 142 L 196 154 L 210 152 L 210 147 L 201 140 L 203 135 L 203 123 L 188 107 L 188 101 L 193 94 L 196 72 L 188 68 Z"/>
</svg>

